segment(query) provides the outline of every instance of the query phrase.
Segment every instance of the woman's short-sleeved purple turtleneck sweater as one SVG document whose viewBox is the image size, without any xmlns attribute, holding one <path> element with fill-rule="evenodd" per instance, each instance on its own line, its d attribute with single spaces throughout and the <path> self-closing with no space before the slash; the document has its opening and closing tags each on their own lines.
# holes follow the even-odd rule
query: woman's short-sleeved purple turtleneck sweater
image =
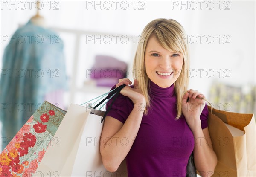
<svg viewBox="0 0 256 177">
<path fill-rule="evenodd" d="M 189 156 L 200 139 L 194 140 L 183 115 L 175 120 L 174 84 L 161 88 L 150 81 L 149 95 L 151 107 L 148 115 L 143 115 L 137 137 L 126 157 L 128 177 L 185 177 Z M 120 94 L 107 116 L 125 123 L 133 107 L 131 99 Z M 207 117 L 205 106 L 200 116 L 202 129 L 208 126 Z"/>
</svg>

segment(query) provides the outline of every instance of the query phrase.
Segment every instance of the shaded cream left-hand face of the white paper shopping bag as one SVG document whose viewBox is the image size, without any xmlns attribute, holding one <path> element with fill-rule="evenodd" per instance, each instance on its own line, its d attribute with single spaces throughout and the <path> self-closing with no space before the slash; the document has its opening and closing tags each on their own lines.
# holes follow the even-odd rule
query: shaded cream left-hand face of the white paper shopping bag
<svg viewBox="0 0 256 177">
<path fill-rule="evenodd" d="M 70 105 L 54 136 L 58 139 L 58 145 L 49 146 L 35 174 L 71 176 L 81 134 L 89 114 L 90 109 L 86 107 Z"/>
</svg>

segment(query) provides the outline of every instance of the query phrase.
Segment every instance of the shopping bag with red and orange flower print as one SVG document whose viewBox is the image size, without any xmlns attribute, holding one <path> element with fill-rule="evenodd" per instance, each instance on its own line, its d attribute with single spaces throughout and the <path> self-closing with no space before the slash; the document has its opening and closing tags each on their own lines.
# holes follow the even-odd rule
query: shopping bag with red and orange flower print
<svg viewBox="0 0 256 177">
<path fill-rule="evenodd" d="M 49 102 L 41 104 L 1 152 L 0 177 L 31 176 L 47 148 L 58 146 L 54 135 L 65 113 Z"/>
</svg>

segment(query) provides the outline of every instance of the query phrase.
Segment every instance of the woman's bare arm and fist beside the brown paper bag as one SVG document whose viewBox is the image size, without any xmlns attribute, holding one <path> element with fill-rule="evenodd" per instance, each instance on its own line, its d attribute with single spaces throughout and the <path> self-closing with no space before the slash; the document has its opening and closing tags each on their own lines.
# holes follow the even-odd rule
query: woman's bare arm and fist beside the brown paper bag
<svg viewBox="0 0 256 177">
<path fill-rule="evenodd" d="M 189 101 L 187 99 L 189 98 Z M 184 96 L 182 100 L 183 110 L 182 113 L 186 118 L 186 122 L 188 123 L 195 139 L 195 147 L 194 147 L 194 161 L 195 167 L 201 176 L 206 177 L 209 174 L 214 173 L 214 169 L 217 165 L 217 156 L 212 148 L 212 141 L 209 136 L 208 128 L 201 128 L 201 120 L 200 115 L 202 109 L 201 105 L 205 105 L 205 101 L 203 99 L 204 95 L 198 93 L 195 90 L 189 90 Z M 197 106 L 196 109 L 189 110 L 186 109 L 191 106 Z M 196 111 L 195 111 L 196 110 Z"/>
</svg>

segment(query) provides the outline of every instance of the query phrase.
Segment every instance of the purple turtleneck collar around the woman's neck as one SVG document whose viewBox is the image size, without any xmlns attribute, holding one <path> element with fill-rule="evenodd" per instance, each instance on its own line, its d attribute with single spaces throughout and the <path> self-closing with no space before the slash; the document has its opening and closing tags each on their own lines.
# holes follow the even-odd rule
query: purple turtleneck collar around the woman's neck
<svg viewBox="0 0 256 177">
<path fill-rule="evenodd" d="M 155 84 L 153 81 L 149 80 L 150 83 L 150 93 L 152 96 L 157 97 L 171 97 L 175 94 L 174 84 L 170 87 L 162 88 Z"/>
</svg>

